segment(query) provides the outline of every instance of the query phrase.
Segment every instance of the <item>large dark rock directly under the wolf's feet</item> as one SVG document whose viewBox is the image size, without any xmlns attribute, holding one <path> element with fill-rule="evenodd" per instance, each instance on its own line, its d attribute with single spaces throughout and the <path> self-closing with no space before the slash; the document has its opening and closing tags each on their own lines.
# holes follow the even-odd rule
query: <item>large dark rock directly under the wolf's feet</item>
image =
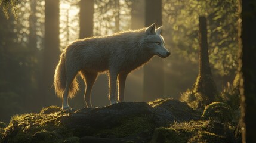
<svg viewBox="0 0 256 143">
<path fill-rule="evenodd" d="M 74 130 L 75 136 L 116 138 L 140 134 L 145 130 L 152 132 L 152 116 L 153 108 L 145 102 L 122 102 L 102 108 L 84 108 L 61 116 L 59 122 Z"/>
</svg>

